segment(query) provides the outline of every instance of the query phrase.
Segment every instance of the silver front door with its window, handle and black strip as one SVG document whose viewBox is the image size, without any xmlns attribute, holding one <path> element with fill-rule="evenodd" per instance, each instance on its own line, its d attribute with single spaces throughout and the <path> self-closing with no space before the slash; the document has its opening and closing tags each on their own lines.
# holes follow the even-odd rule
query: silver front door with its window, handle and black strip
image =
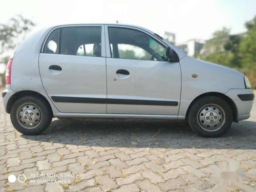
<svg viewBox="0 0 256 192">
<path fill-rule="evenodd" d="M 178 115 L 180 63 L 167 61 L 166 45 L 137 28 L 105 29 L 107 113 Z"/>
</svg>

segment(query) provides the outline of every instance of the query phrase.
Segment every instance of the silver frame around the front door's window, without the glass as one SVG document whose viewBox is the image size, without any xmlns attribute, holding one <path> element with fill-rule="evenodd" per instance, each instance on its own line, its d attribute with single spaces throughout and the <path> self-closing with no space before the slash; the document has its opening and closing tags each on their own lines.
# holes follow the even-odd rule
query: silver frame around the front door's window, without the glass
<svg viewBox="0 0 256 192">
<path fill-rule="evenodd" d="M 111 57 L 111 48 L 110 48 L 110 36 L 109 36 L 109 28 L 121 28 L 121 29 L 131 29 L 131 30 L 135 30 L 135 31 L 139 31 L 141 33 L 144 33 L 147 36 L 150 36 L 151 38 L 153 38 L 155 41 L 157 41 L 159 44 L 161 44 L 162 46 L 164 46 L 164 48 L 166 48 L 168 45 L 165 44 L 165 42 L 163 42 L 162 40 L 160 40 L 159 38 L 156 38 L 154 35 L 152 35 L 151 33 L 148 33 L 147 31 L 144 31 L 140 28 L 136 28 L 136 27 L 130 27 L 130 26 L 119 26 L 119 25 L 105 25 L 105 33 L 106 33 L 106 37 L 105 37 L 105 45 L 106 45 L 106 58 L 115 58 L 115 57 Z M 175 51 L 174 51 L 175 52 Z M 175 52 L 176 53 L 176 52 Z M 176 53 L 177 54 L 177 53 Z M 127 58 L 115 58 L 115 59 L 127 59 Z M 132 60 L 138 60 L 138 59 L 132 59 Z M 140 60 L 141 61 L 141 60 Z M 142 61 L 151 61 L 151 60 L 142 60 Z M 159 61 L 159 62 L 163 62 L 163 61 Z"/>
</svg>

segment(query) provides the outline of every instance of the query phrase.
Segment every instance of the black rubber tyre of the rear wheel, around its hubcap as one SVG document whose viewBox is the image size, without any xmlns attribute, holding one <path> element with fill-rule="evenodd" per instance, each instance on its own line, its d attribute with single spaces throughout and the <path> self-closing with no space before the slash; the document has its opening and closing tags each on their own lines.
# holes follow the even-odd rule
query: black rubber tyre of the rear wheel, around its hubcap
<svg viewBox="0 0 256 192">
<path fill-rule="evenodd" d="M 40 121 L 37 125 L 35 125 L 34 128 L 33 126 L 29 128 L 26 127 L 26 125 L 22 123 L 22 117 L 17 115 L 19 113 L 19 109 L 22 108 L 22 106 L 25 106 L 27 103 L 38 106 L 38 110 L 40 112 Z M 45 131 L 52 122 L 51 106 L 46 100 L 37 96 L 24 96 L 17 99 L 12 105 L 10 116 L 15 129 L 24 135 L 37 135 Z M 18 119 L 19 117 L 21 120 Z"/>
</svg>

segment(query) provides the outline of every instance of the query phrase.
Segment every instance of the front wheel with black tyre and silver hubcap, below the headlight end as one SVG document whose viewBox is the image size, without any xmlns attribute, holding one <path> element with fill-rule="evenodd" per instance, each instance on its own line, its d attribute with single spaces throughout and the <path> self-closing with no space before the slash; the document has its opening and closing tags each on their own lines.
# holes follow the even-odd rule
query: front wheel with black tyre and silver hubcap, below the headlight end
<svg viewBox="0 0 256 192">
<path fill-rule="evenodd" d="M 211 120 L 209 119 L 210 116 L 207 117 L 206 115 L 207 113 L 211 112 L 209 111 L 206 113 L 205 110 L 207 110 L 207 106 L 210 106 L 211 109 L 214 109 L 215 108 L 214 106 L 216 106 L 217 108 L 219 107 L 217 109 L 219 111 L 217 112 L 220 112 L 220 117 L 218 116 L 217 117 L 218 119 L 216 118 L 217 120 L 212 118 L 212 122 L 214 121 L 216 122 L 216 124 L 210 125 L 210 126 L 216 125 L 216 128 L 213 127 L 212 130 L 207 130 L 209 128 L 205 126 L 209 126 L 209 125 L 207 124 L 207 122 L 204 122 L 202 119 L 200 119 L 200 118 L 208 118 L 208 120 L 205 120 L 205 121 Z M 205 113 L 202 112 L 202 110 L 204 110 Z M 224 112 L 223 114 L 222 114 L 222 111 Z M 202 112 L 202 113 L 199 114 L 199 112 Z M 221 114 L 223 115 L 223 118 L 221 118 Z M 232 110 L 229 104 L 222 98 L 216 97 L 216 96 L 205 96 L 196 100 L 190 106 L 187 114 L 187 121 L 191 129 L 203 137 L 219 137 L 223 135 L 225 132 L 228 131 L 229 127 L 231 126 L 232 120 L 233 120 L 233 115 L 232 115 Z M 217 126 L 218 123 L 222 123 L 222 124 Z"/>
</svg>

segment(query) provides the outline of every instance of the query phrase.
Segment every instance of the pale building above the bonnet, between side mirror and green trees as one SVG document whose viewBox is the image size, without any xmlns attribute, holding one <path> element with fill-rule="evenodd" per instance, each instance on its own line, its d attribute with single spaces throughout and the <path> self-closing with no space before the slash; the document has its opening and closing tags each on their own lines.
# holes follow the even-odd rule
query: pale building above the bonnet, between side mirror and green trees
<svg viewBox="0 0 256 192">
<path fill-rule="evenodd" d="M 197 57 L 203 50 L 205 41 L 201 39 L 191 39 L 183 44 L 176 45 L 181 51 L 188 56 Z"/>
</svg>

